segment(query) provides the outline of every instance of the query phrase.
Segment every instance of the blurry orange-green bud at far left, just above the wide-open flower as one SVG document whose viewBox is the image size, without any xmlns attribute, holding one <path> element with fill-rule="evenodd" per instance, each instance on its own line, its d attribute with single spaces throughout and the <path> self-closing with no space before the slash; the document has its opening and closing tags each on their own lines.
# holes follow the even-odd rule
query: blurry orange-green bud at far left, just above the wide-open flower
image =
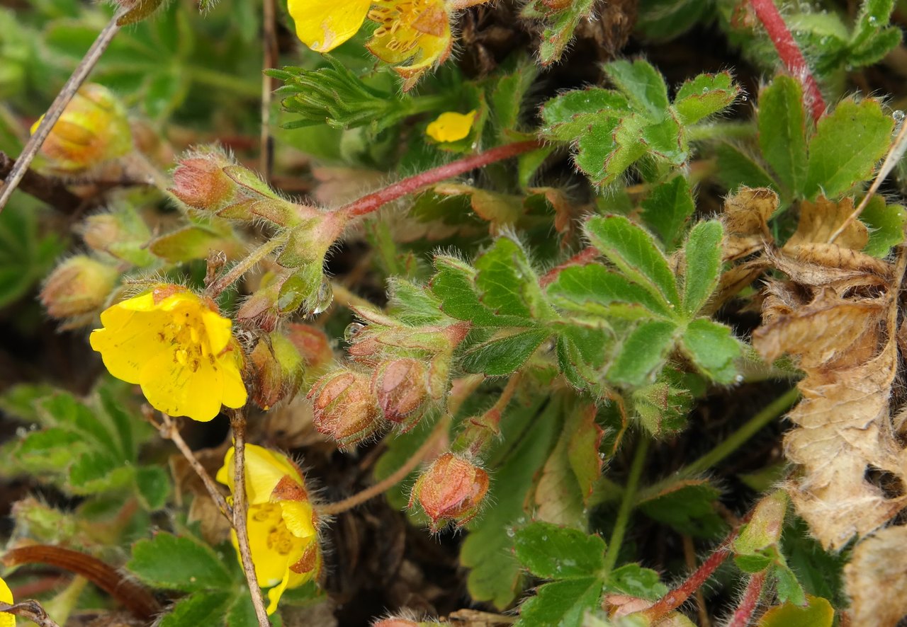
<svg viewBox="0 0 907 627">
<path fill-rule="evenodd" d="M 116 268 L 87 256 L 74 256 L 57 265 L 39 295 L 54 318 L 73 318 L 101 309 L 117 277 Z"/>
</svg>

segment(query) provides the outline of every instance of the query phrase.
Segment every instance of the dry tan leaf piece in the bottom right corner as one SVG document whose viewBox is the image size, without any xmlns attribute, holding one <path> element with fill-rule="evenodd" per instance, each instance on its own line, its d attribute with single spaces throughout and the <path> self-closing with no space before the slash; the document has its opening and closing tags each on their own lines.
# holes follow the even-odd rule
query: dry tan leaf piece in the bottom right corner
<svg viewBox="0 0 907 627">
<path fill-rule="evenodd" d="M 853 625 L 894 627 L 907 615 L 907 527 L 890 526 L 853 549 L 844 566 Z"/>
</svg>

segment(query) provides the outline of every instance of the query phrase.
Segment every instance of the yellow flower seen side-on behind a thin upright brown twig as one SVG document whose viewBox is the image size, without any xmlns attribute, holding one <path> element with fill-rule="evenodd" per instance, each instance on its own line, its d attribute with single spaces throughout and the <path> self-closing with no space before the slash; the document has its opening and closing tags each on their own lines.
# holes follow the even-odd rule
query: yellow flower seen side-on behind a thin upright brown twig
<svg viewBox="0 0 907 627">
<path fill-rule="evenodd" d="M 236 489 L 231 447 L 218 481 Z M 249 549 L 258 585 L 268 590 L 268 613 L 280 595 L 316 577 L 321 570 L 316 515 L 302 473 L 285 455 L 246 445 L 246 495 L 249 499 Z M 237 547 L 236 533 L 232 533 Z"/>
</svg>

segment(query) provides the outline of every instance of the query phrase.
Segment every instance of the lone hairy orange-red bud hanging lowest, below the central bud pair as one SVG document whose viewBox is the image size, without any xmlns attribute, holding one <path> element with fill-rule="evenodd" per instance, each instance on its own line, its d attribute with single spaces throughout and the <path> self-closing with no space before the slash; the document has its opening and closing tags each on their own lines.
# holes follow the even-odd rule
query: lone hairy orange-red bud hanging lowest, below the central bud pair
<svg viewBox="0 0 907 627">
<path fill-rule="evenodd" d="M 416 480 L 409 506 L 418 499 L 432 519 L 432 530 L 437 531 L 447 522 L 463 526 L 472 520 L 487 492 L 487 472 L 453 453 L 444 453 Z"/>
</svg>

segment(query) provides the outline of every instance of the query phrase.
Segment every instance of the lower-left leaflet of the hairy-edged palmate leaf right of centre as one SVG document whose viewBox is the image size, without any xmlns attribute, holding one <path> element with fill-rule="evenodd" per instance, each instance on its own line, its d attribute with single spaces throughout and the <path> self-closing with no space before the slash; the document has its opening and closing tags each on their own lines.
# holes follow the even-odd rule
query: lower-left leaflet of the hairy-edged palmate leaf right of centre
<svg viewBox="0 0 907 627">
<path fill-rule="evenodd" d="M 677 325 L 671 322 L 640 323 L 620 346 L 608 369 L 609 381 L 638 386 L 654 378 L 674 346 Z"/>
</svg>

